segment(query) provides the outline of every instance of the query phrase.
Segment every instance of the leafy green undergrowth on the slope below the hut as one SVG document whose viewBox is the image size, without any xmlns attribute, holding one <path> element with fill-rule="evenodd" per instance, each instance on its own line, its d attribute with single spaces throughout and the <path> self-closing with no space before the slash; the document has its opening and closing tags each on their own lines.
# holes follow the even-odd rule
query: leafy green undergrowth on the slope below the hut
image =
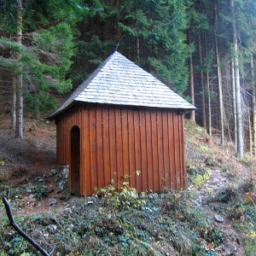
<svg viewBox="0 0 256 256">
<path fill-rule="evenodd" d="M 117 204 L 118 195 L 119 201 L 127 197 L 131 203 Z M 202 207 L 194 206 L 193 193 L 169 192 L 157 201 L 143 198 L 140 205 L 130 196 L 95 199 L 93 205 L 81 198 L 61 213 L 15 218 L 48 251 L 54 246 L 60 255 L 217 255 L 214 250 L 224 235 Z M 7 225 L 7 218 L 1 217 L 1 223 L 0 255 L 37 255 Z"/>
</svg>

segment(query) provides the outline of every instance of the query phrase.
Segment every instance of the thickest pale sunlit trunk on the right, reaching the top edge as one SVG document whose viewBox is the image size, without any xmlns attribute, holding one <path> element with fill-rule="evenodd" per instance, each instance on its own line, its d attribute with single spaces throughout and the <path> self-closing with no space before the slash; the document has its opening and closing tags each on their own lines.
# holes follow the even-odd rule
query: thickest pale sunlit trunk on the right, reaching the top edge
<svg viewBox="0 0 256 256">
<path fill-rule="evenodd" d="M 235 0 L 230 0 L 232 27 L 233 27 L 233 43 L 234 43 L 234 63 L 235 63 L 235 77 L 236 77 L 236 121 L 237 121 L 237 153 L 243 157 L 243 127 L 242 127 L 242 113 L 241 113 L 241 85 L 240 72 L 238 61 L 238 44 L 236 32 L 236 16 L 235 16 Z"/>
</svg>

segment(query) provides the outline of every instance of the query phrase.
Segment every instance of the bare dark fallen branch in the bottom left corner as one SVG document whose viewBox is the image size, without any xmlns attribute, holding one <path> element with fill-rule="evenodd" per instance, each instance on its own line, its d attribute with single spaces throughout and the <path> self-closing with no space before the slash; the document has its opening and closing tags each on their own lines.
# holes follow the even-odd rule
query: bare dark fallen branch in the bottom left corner
<svg viewBox="0 0 256 256">
<path fill-rule="evenodd" d="M 3 204 L 4 204 L 4 207 L 5 207 L 5 211 L 6 211 L 6 214 L 9 218 L 9 224 L 18 232 L 18 234 L 20 236 L 22 236 L 23 238 L 26 239 L 26 241 L 30 242 L 32 244 L 33 247 L 35 247 L 38 252 L 42 253 L 44 256 L 50 256 L 51 253 L 47 253 L 43 247 L 41 247 L 36 241 L 34 241 L 32 239 L 32 237 L 28 236 L 23 230 L 20 229 L 19 225 L 16 224 L 15 222 L 15 219 L 14 219 L 14 216 L 13 216 L 13 213 L 12 213 L 12 209 L 11 209 L 11 206 L 9 204 L 9 191 L 7 193 L 7 196 L 3 196 Z"/>
</svg>

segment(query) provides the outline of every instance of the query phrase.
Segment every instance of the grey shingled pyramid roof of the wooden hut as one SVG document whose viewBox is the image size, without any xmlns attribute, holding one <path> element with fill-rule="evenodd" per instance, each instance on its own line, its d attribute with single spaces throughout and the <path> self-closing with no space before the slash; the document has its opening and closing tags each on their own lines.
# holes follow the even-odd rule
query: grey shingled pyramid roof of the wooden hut
<svg viewBox="0 0 256 256">
<path fill-rule="evenodd" d="M 166 84 L 155 79 L 118 51 L 103 61 L 102 65 L 49 116 L 49 119 L 53 119 L 73 102 L 195 109 Z"/>
</svg>

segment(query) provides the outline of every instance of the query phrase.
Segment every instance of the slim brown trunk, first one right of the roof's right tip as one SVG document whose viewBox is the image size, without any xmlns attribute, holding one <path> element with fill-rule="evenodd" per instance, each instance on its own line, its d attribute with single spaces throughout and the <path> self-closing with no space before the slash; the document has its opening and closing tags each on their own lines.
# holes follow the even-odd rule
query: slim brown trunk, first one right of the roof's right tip
<svg viewBox="0 0 256 256">
<path fill-rule="evenodd" d="M 204 85 L 204 73 L 202 70 L 201 33 L 198 34 L 198 56 L 199 56 L 199 63 L 200 63 L 202 126 L 207 130 L 206 95 L 205 95 L 205 85 Z"/>
</svg>

